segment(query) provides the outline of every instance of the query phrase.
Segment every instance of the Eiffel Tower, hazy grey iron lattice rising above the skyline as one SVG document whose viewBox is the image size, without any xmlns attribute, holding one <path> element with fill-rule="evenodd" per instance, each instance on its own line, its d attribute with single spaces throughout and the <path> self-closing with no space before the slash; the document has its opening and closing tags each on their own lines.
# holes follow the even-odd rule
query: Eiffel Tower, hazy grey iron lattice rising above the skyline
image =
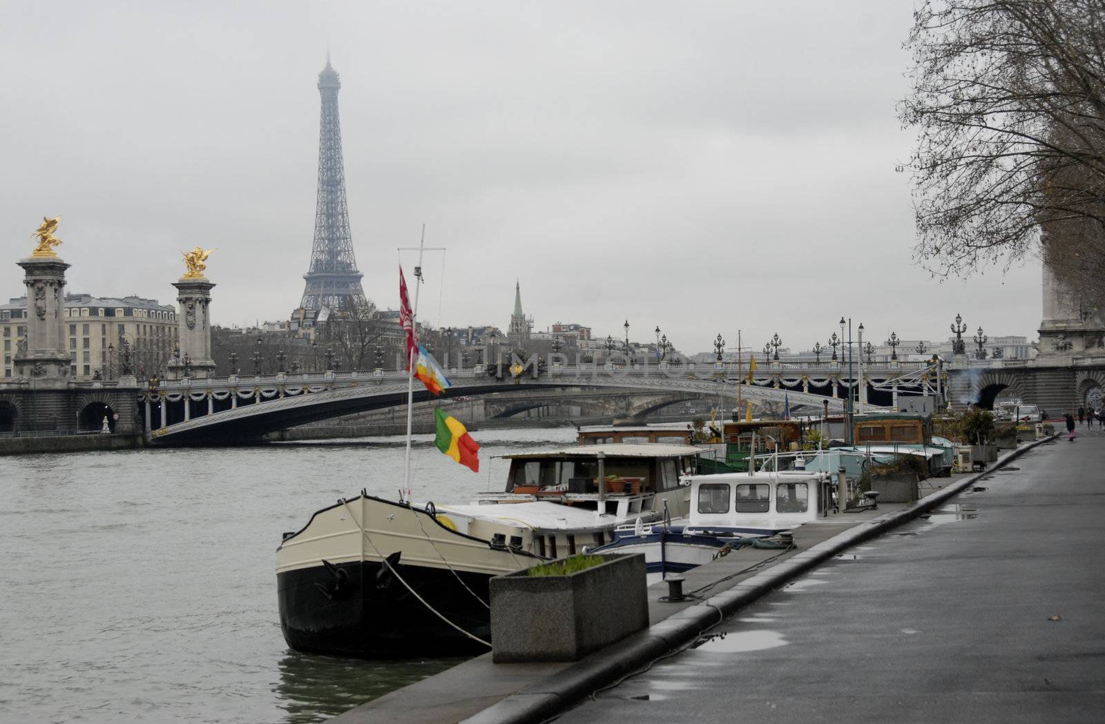
<svg viewBox="0 0 1105 724">
<path fill-rule="evenodd" d="M 364 305 L 360 287 L 364 276 L 357 269 L 349 233 L 346 205 L 345 164 L 341 160 L 341 126 L 338 120 L 338 89 L 341 82 L 330 66 L 318 74 L 318 94 L 323 98 L 318 131 L 318 201 L 315 206 L 315 241 L 311 248 L 311 268 L 303 278 L 307 286 L 299 302 L 302 318 L 316 319 L 324 309 L 347 309 Z M 297 310 L 298 311 L 298 310 Z"/>
</svg>

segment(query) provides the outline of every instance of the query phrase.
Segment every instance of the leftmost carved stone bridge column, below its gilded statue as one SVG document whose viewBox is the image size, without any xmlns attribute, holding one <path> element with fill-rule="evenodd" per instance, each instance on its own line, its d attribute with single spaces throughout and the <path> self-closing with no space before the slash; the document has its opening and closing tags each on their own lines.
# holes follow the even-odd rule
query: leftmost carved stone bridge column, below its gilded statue
<svg viewBox="0 0 1105 724">
<path fill-rule="evenodd" d="M 66 350 L 65 269 L 69 264 L 53 252 L 35 252 L 18 262 L 27 286 L 27 339 L 15 353 L 15 371 L 39 385 L 65 386 L 70 373 Z"/>
</svg>

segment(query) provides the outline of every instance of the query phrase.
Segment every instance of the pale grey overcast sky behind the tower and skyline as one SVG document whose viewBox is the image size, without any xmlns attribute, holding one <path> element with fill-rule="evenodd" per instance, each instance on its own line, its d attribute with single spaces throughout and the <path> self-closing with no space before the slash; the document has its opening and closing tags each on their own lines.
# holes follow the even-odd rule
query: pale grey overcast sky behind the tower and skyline
<svg viewBox="0 0 1105 724">
<path fill-rule="evenodd" d="M 217 247 L 215 323 L 285 319 L 315 214 L 327 43 L 366 294 L 505 328 L 556 321 L 687 352 L 720 331 L 824 343 L 840 317 L 1035 337 L 1038 263 L 939 283 L 913 258 L 912 0 L 15 2 L 0 12 L 0 296 L 46 215 L 70 290 L 176 304 Z M 412 263 L 412 259 L 409 260 Z M 440 315 L 439 315 L 440 307 Z"/>
</svg>

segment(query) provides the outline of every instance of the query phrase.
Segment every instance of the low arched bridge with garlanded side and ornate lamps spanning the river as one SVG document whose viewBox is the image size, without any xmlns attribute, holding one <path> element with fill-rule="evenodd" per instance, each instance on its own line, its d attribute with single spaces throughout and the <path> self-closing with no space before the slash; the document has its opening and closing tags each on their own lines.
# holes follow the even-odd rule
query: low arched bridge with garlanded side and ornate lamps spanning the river
<svg viewBox="0 0 1105 724">
<path fill-rule="evenodd" d="M 917 372 L 927 369 L 914 365 Z M 892 379 L 903 370 L 887 370 L 878 379 Z M 671 404 L 692 396 L 722 398 L 733 405 L 737 397 L 736 369 L 730 366 L 683 365 L 660 369 L 634 366 L 559 366 L 535 374 L 529 370 L 517 376 L 509 372 L 491 374 L 480 368 L 452 370 L 453 384 L 446 398 L 494 393 L 516 393 L 517 404 L 504 407 L 520 409 L 527 404 L 550 404 L 559 395 L 565 401 L 602 390 L 640 393 L 623 411 L 642 414 L 650 407 Z M 741 385 L 741 396 L 753 404 L 789 402 L 792 408 L 825 405 L 832 412 L 843 409 L 843 391 L 851 386 L 839 369 L 821 368 L 813 374 L 793 370 L 765 369 L 754 375 L 754 384 Z M 873 377 L 869 377 L 873 379 Z M 904 381 L 904 387 L 919 392 L 920 383 Z M 821 393 L 821 394 L 819 394 Z M 527 403 L 527 397 L 534 397 Z M 415 384 L 414 400 L 428 400 L 429 393 Z M 162 382 L 141 393 L 148 435 L 160 443 L 234 441 L 265 433 L 318 422 L 351 413 L 403 405 L 407 402 L 406 373 L 277 374 L 264 377 L 180 380 Z M 872 405 L 873 406 L 873 405 Z"/>
</svg>

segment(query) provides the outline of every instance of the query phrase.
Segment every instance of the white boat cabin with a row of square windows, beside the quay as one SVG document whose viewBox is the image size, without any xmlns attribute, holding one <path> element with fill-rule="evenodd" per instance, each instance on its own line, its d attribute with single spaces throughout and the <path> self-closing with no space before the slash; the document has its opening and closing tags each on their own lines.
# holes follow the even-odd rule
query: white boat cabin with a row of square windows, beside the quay
<svg viewBox="0 0 1105 724">
<path fill-rule="evenodd" d="M 729 472 L 691 479 L 687 533 L 775 535 L 825 518 L 832 479 L 823 472 Z"/>
</svg>

